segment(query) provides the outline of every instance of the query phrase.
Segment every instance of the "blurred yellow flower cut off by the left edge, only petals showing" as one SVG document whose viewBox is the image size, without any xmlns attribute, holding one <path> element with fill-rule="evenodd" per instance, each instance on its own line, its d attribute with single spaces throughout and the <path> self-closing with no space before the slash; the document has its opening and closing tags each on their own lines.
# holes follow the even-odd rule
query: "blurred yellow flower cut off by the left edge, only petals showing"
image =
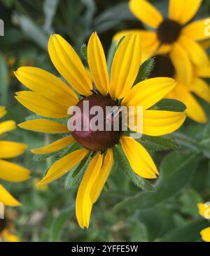
<svg viewBox="0 0 210 256">
<path fill-rule="evenodd" d="M 0 117 L 6 115 L 6 108 L 0 106 Z M 15 122 L 8 120 L 0 123 L 0 136 L 6 132 L 15 129 Z M 14 141 L 0 140 L 0 180 L 10 182 L 21 182 L 29 179 L 29 170 L 6 159 L 15 158 L 25 152 L 27 145 Z M 3 205 L 19 206 L 18 200 L 6 191 L 6 188 L 0 184 L 0 202 Z"/>
</svg>

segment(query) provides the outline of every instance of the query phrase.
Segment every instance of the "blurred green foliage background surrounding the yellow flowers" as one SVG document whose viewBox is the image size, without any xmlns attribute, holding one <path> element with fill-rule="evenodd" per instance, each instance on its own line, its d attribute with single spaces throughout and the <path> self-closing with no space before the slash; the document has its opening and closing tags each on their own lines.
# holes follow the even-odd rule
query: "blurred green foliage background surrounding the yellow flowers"
<svg viewBox="0 0 210 256">
<path fill-rule="evenodd" d="M 168 1 L 151 1 L 167 13 Z M 0 105 L 4 119 L 23 122 L 31 115 L 14 99 L 24 89 L 13 76 L 22 65 L 33 65 L 57 74 L 48 56 L 50 34 L 61 34 L 80 52 L 93 31 L 109 51 L 119 30 L 143 27 L 122 0 L 1 0 L 0 18 L 5 36 L 0 37 Z M 210 1 L 204 0 L 197 18 L 207 17 Z M 200 101 L 210 118 L 209 105 Z M 135 187 L 123 172 L 113 172 L 109 192 L 103 191 L 94 205 L 90 229 L 76 222 L 77 188 L 66 189 L 65 178 L 40 190 L 34 186 L 49 165 L 48 158 L 33 160 L 29 149 L 43 146 L 50 136 L 16 129 L 6 139 L 27 143 L 25 155 L 16 159 L 31 169 L 32 177 L 22 184 L 4 184 L 22 207 L 17 209 L 16 233 L 22 241 L 201 241 L 200 231 L 208 222 L 199 216 L 197 203 L 210 200 L 210 122 L 187 120 L 174 134 L 181 148 L 174 152 L 151 152 L 160 169 L 156 192 Z M 53 138 L 55 139 L 55 138 Z"/>
</svg>

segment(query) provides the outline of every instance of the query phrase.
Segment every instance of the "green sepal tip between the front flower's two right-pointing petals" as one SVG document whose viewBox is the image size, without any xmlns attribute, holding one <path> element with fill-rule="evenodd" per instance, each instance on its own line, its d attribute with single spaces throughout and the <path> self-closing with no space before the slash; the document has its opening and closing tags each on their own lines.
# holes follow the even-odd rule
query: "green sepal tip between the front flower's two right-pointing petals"
<svg viewBox="0 0 210 256">
<path fill-rule="evenodd" d="M 186 110 L 186 105 L 181 101 L 177 101 L 171 98 L 163 98 L 150 109 L 183 112 Z"/>
</svg>

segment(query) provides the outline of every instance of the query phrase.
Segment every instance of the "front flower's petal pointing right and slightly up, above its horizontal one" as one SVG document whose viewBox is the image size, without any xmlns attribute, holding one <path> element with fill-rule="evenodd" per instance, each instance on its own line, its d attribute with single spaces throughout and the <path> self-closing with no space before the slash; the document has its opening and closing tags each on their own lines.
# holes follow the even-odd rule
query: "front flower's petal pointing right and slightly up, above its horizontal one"
<svg viewBox="0 0 210 256">
<path fill-rule="evenodd" d="M 123 98 L 122 104 L 127 106 L 142 106 L 144 109 L 160 101 L 169 91 L 174 89 L 175 80 L 168 77 L 157 77 L 136 84 Z"/>
</svg>

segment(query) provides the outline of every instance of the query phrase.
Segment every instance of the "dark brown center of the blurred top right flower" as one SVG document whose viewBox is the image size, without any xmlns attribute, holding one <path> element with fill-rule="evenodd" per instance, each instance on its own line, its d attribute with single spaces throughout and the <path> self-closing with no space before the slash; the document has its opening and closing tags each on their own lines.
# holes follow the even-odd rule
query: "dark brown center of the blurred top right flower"
<svg viewBox="0 0 210 256">
<path fill-rule="evenodd" d="M 174 20 L 164 20 L 158 27 L 158 39 L 161 44 L 172 44 L 181 34 L 181 25 Z"/>
</svg>

